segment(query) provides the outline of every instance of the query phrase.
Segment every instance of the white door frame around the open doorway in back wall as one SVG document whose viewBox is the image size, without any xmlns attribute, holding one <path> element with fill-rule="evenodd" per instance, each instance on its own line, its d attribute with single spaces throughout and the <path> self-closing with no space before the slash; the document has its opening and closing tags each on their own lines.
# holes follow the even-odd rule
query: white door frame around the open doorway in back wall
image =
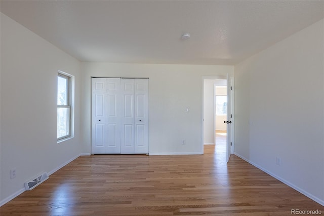
<svg viewBox="0 0 324 216">
<path fill-rule="evenodd" d="M 201 153 L 204 154 L 204 80 L 226 80 L 224 76 L 218 77 L 202 77 L 202 87 L 201 87 Z M 231 114 L 232 114 L 232 124 L 231 124 L 231 154 L 234 154 L 234 77 L 230 77 L 230 82 L 232 86 L 231 91 Z M 229 114 L 230 115 L 230 114 Z M 215 114 L 214 114 L 215 117 Z M 214 130 L 215 130 L 215 118 L 214 118 Z"/>
</svg>

